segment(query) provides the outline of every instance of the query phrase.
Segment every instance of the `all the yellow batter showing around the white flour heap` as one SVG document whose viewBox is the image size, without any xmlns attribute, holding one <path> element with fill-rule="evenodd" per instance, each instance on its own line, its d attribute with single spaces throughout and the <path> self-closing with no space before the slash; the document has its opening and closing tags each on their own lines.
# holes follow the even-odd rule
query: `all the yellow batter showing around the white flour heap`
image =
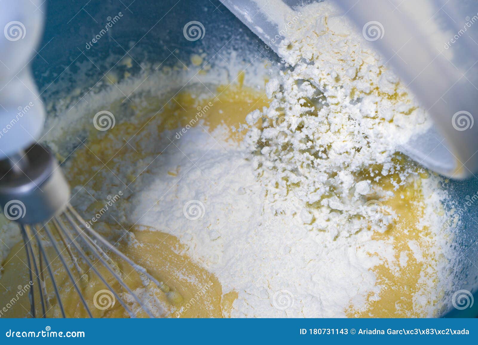
<svg viewBox="0 0 478 345">
<path fill-rule="evenodd" d="M 195 57 L 195 59 L 198 59 Z M 80 147 L 71 157 L 67 177 L 71 186 L 87 185 L 88 188 L 99 188 L 104 183 L 103 171 L 114 170 L 118 160 L 132 162 L 131 173 L 127 177 L 129 182 L 135 183 L 138 178 L 138 171 L 134 168 L 134 162 L 144 158 L 146 154 L 141 153 L 141 148 L 133 141 L 125 145 L 124 141 L 118 138 L 130 138 L 133 135 L 141 137 L 141 140 L 151 140 L 150 135 L 145 131 L 147 126 L 156 126 L 157 132 L 162 133 L 165 129 L 176 129 L 179 126 L 191 124 L 199 106 L 211 102 L 214 106 L 202 115 L 209 131 L 214 130 L 218 125 L 227 126 L 244 123 L 245 116 L 252 110 L 267 106 L 268 100 L 263 92 L 250 89 L 242 85 L 243 75 L 239 75 L 239 83 L 231 86 L 220 86 L 217 88 L 217 97 L 207 99 L 199 97 L 198 93 L 191 90 L 180 92 L 171 99 L 158 99 L 151 97 L 147 102 L 140 105 L 131 104 L 131 110 L 136 114 L 127 122 L 117 123 L 106 133 L 92 129 L 88 136 L 87 147 Z M 167 101 L 167 102 L 165 102 Z M 121 102 L 112 104 L 110 111 L 118 113 Z M 158 112 L 158 109 L 161 111 Z M 156 114 L 152 116 L 153 114 Z M 194 123 L 193 125 L 198 125 Z M 229 139 L 240 140 L 240 133 L 230 132 Z M 115 157 L 115 159 L 111 159 Z M 406 164 L 405 162 L 403 164 Z M 181 167 L 177 171 L 170 171 L 171 178 L 177 177 Z M 380 169 L 379 169 L 380 170 Z M 148 170 L 146 170 L 148 171 Z M 97 174 L 95 174 L 98 172 Z M 92 178 L 91 176 L 95 174 Z M 426 176 L 423 176 L 426 178 Z M 386 190 L 393 190 L 390 180 L 382 178 L 379 182 Z M 120 185 L 119 185 L 120 187 Z M 134 189 L 134 188 L 133 188 Z M 128 202 L 128 199 L 120 199 L 118 202 Z M 85 218 L 94 214 L 95 210 L 103 205 L 93 203 L 85 214 Z M 413 295 L 420 289 L 419 276 L 425 274 L 436 277 L 436 259 L 429 253 L 433 243 L 433 236 L 426 230 L 418 230 L 416 224 L 423 214 L 424 197 L 420 186 L 420 179 L 416 178 L 407 183 L 400 191 L 395 192 L 392 197 L 384 202 L 396 213 L 400 214 L 399 221 L 385 233 L 376 233 L 375 240 L 383 240 L 393 243 L 396 259 L 408 253 L 408 262 L 398 272 L 391 270 L 385 262 L 373 270 L 377 275 L 377 282 L 381 284 L 380 293 L 371 293 L 363 310 L 350 305 L 346 311 L 350 317 L 405 317 L 423 316 L 419 310 L 413 309 Z M 90 214 L 91 213 L 91 214 Z M 125 226 L 125 224 L 122 224 Z M 128 229 L 130 234 L 124 236 L 124 230 L 120 225 L 98 221 L 94 228 L 105 236 L 119 240 L 119 248 L 133 261 L 140 263 L 156 279 L 163 283 L 160 288 L 154 287 L 152 283 L 145 289 L 149 298 L 156 298 L 161 304 L 166 305 L 162 314 L 163 317 L 222 317 L 228 316 L 234 300 L 238 293 L 230 291 L 224 293 L 217 278 L 207 272 L 197 262 L 187 256 L 187 248 L 179 239 L 167 233 L 166 229 L 158 224 L 156 229 L 148 229 L 136 225 Z M 123 235 L 119 235 L 119 234 Z M 114 235 L 112 235 L 114 234 Z M 134 237 L 134 240 L 131 238 Z M 418 245 L 424 253 L 425 260 L 417 262 L 411 254 L 410 241 Z M 132 244 L 131 244 L 132 243 Z M 55 279 L 60 286 L 62 301 L 68 317 L 87 316 L 85 308 L 81 304 L 78 295 L 72 288 L 60 261 L 51 246 L 47 247 L 48 255 L 52 259 L 52 267 L 55 272 Z M 68 255 L 65 255 L 68 257 Z M 117 260 L 117 259 L 116 259 Z M 23 243 L 18 243 L 11 249 L 8 258 L 3 262 L 0 286 L 4 287 L 0 293 L 1 304 L 15 299 L 17 287 L 28 282 L 28 272 L 25 265 L 25 252 Z M 69 260 L 70 265 L 71 261 Z M 81 262 L 80 262 L 81 264 Z M 144 289 L 139 275 L 132 268 L 121 260 L 117 260 L 118 269 L 128 285 L 134 290 Z M 105 276 L 117 291 L 121 287 L 114 282 L 111 275 L 101 268 Z M 72 270 L 73 266 L 72 266 Z M 75 272 L 75 271 L 73 271 Z M 45 271 L 46 273 L 46 271 Z M 83 278 L 76 273 L 78 285 L 81 287 L 90 310 L 95 317 L 128 317 L 120 303 L 116 302 L 105 310 L 94 305 L 94 295 L 105 285 L 99 281 L 93 272 L 84 272 Z M 195 282 L 195 283 L 193 283 Z M 46 287 L 49 291 L 48 316 L 61 316 L 51 282 L 46 274 Z M 38 290 L 37 290 L 38 291 Z M 201 293 L 198 293 L 201 292 Z M 380 298 L 375 298 L 376 294 Z M 144 295 L 143 295 L 144 296 Z M 36 301 L 39 301 L 36 296 Z M 17 301 L 11 303 L 11 308 L 2 314 L 2 317 L 25 317 L 30 310 L 27 294 L 24 293 Z M 138 309 L 138 305 L 128 303 L 130 308 L 136 312 L 136 316 L 146 316 Z M 39 304 L 37 304 L 39 308 Z"/>
</svg>

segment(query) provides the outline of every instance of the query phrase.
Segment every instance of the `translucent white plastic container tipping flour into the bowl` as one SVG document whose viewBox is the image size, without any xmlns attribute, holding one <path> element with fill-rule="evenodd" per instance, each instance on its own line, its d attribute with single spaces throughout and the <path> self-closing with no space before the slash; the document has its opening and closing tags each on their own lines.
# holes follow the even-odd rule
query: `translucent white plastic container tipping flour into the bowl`
<svg viewBox="0 0 478 345">
<path fill-rule="evenodd" d="M 305 1 L 310 3 L 313 1 Z M 335 0 L 434 120 L 401 151 L 450 178 L 478 172 L 478 2 Z M 223 0 L 275 52 L 303 0 Z M 283 18 L 274 18 L 274 8 Z M 281 29 L 282 27 L 282 29 Z M 290 30 L 290 29 L 289 29 Z M 476 176 L 475 176 L 476 177 Z"/>
</svg>

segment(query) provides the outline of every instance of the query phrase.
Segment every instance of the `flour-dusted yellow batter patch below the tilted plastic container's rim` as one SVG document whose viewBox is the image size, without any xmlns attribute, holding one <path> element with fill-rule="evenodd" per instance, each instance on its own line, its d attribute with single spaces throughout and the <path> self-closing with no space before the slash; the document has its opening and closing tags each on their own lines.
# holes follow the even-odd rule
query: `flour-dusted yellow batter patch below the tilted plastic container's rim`
<svg viewBox="0 0 478 345">
<path fill-rule="evenodd" d="M 402 160 L 406 164 L 404 158 Z M 422 172 L 421 178 L 427 177 L 428 173 Z M 396 175 L 394 178 L 398 180 L 399 177 Z M 384 190 L 393 190 L 390 179 L 382 178 L 382 181 L 380 185 Z M 414 308 L 413 296 L 423 287 L 421 275 L 431 278 L 430 281 L 434 282 L 431 288 L 436 288 L 438 262 L 436 253 L 431 251 L 433 234 L 426 227 L 422 230 L 417 228 L 425 208 L 421 185 L 422 180 L 414 178 L 383 202 L 384 206 L 390 206 L 400 217 L 393 227 L 384 233 L 376 232 L 372 239 L 391 242 L 394 259 L 399 261 L 401 256 L 405 256 L 406 265 L 400 267 L 398 272 L 391 270 L 389 262 L 376 266 L 373 272 L 376 273 L 379 288 L 369 294 L 365 308 L 358 309 L 351 305 L 347 312 L 349 317 L 424 317 L 423 311 Z M 411 244 L 421 250 L 423 258 L 420 261 L 414 257 Z M 441 256 L 438 260 L 444 260 Z M 441 295 L 443 297 L 443 293 Z"/>
</svg>

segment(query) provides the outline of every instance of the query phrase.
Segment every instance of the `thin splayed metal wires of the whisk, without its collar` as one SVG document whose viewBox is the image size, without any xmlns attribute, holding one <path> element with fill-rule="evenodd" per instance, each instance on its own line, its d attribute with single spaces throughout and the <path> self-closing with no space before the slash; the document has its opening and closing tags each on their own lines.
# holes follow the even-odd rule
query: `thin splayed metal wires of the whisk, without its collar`
<svg viewBox="0 0 478 345">
<path fill-rule="evenodd" d="M 53 236 L 50 223 L 45 223 L 41 229 L 45 231 L 54 250 L 56 251 L 57 257 L 60 259 L 61 263 L 63 264 L 65 271 L 68 275 L 68 278 L 72 282 L 73 287 L 75 288 L 76 292 L 78 293 L 80 297 L 80 300 L 85 306 L 88 316 L 93 317 L 91 310 L 89 309 L 88 304 L 85 300 L 85 297 L 83 293 L 81 292 L 80 287 L 78 286 L 78 282 L 81 281 L 81 279 L 84 276 L 84 273 L 81 267 L 78 265 L 78 262 L 76 261 L 76 255 L 73 253 L 72 249 L 74 249 L 80 255 L 80 257 L 87 263 L 88 267 L 91 270 L 93 270 L 93 272 L 95 272 L 98 278 L 106 285 L 109 291 L 120 302 L 120 304 L 123 306 L 125 311 L 130 315 L 130 317 L 136 317 L 135 315 L 137 312 L 133 312 L 128 307 L 126 302 L 107 282 L 105 277 L 94 267 L 94 264 L 88 259 L 88 254 L 82 249 L 82 245 L 80 244 L 79 239 L 81 239 L 82 243 L 86 246 L 90 254 L 94 255 L 98 259 L 98 261 L 101 262 L 101 264 L 109 271 L 109 273 L 111 273 L 111 275 L 115 278 L 115 280 L 120 283 L 121 287 L 124 288 L 132 296 L 132 298 L 140 305 L 140 308 L 149 317 L 154 317 L 149 307 L 145 303 L 141 302 L 137 294 L 130 289 L 130 287 L 124 282 L 123 279 L 121 279 L 119 273 L 116 272 L 116 270 L 118 270 L 118 266 L 116 266 L 114 261 L 107 254 L 107 251 L 104 251 L 103 248 L 96 242 L 96 240 L 98 240 L 100 244 L 105 245 L 108 248 L 108 251 L 112 251 L 114 254 L 118 255 L 121 259 L 125 260 L 140 275 L 141 274 L 145 275 L 148 279 L 154 282 L 158 287 L 161 288 L 162 283 L 157 281 L 151 274 L 149 274 L 145 268 L 136 264 L 134 261 L 130 260 L 126 255 L 124 255 L 121 251 L 119 251 L 114 245 L 109 243 L 109 241 L 106 240 L 104 237 L 102 237 L 98 232 L 96 232 L 95 230 L 91 228 L 87 228 L 84 225 L 83 227 L 80 227 L 76 223 L 76 221 L 79 222 L 80 224 L 86 224 L 85 220 L 81 218 L 81 216 L 76 212 L 75 209 L 71 207 L 71 205 L 69 204 L 67 205 L 67 210 L 65 210 L 63 215 L 68 221 L 69 225 L 71 225 L 71 228 L 73 228 L 73 230 L 71 230 L 70 227 L 66 226 L 64 221 L 60 217 L 54 217 L 52 219 L 53 229 L 55 229 L 56 232 L 58 233 L 60 240 L 65 245 L 65 250 L 68 252 L 68 254 L 70 255 L 72 259 L 72 263 L 75 266 L 76 271 L 78 272 L 78 275 L 79 275 L 78 281 L 75 280 L 75 277 L 73 276 L 73 273 L 68 267 L 68 264 L 65 260 L 64 255 L 62 254 L 64 250 L 60 251 L 58 242 Z M 51 266 L 52 261 L 50 261 L 49 257 L 47 256 L 45 248 L 42 243 L 43 238 L 40 233 L 41 229 L 38 226 L 35 227 L 30 225 L 22 225 L 21 229 L 22 229 L 23 241 L 25 243 L 26 259 L 28 262 L 30 281 L 33 282 L 33 280 L 35 279 L 36 284 L 38 284 L 38 287 L 39 287 L 39 297 L 40 297 L 40 305 L 41 305 L 41 311 L 42 311 L 41 317 L 45 318 L 47 312 L 51 309 L 51 307 L 49 306 L 50 303 L 49 303 L 48 291 L 46 288 L 46 280 L 43 274 L 45 270 L 48 272 L 51 278 L 54 294 L 58 301 L 58 307 L 60 309 L 60 313 L 62 317 L 66 317 L 65 307 L 61 300 L 58 285 L 56 284 L 56 281 L 54 279 L 54 272 L 52 271 L 52 266 Z M 93 238 L 96 240 L 90 237 L 88 233 L 91 234 L 91 236 L 93 236 Z M 34 247 L 33 244 L 35 244 L 35 242 L 33 241 L 33 238 L 36 241 L 36 247 L 38 247 L 37 248 L 38 255 L 35 255 L 35 251 L 33 248 Z M 29 291 L 29 300 L 30 300 L 30 306 L 31 306 L 30 313 L 32 314 L 33 317 L 37 316 L 35 296 L 34 296 L 35 294 L 34 285 L 36 284 L 32 284 L 32 287 Z"/>
</svg>

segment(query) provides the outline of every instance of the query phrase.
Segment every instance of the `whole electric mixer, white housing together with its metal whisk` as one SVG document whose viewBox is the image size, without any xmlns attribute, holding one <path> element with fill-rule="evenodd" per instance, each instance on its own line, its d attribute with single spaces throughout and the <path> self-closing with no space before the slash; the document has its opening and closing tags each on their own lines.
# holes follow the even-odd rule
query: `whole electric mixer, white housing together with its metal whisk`
<svg viewBox="0 0 478 345">
<path fill-rule="evenodd" d="M 30 315 L 46 317 L 50 310 L 59 309 L 62 317 L 70 316 L 55 280 L 58 272 L 52 262 L 59 260 L 89 317 L 93 313 L 83 292 L 87 273 L 98 276 L 130 317 L 140 308 L 154 317 L 147 301 L 126 284 L 113 256 L 130 265 L 144 284 L 153 282 L 163 289 L 164 284 L 81 218 L 69 203 L 70 188 L 53 153 L 37 141 L 44 110 L 29 69 L 31 54 L 25 52 L 33 52 L 40 37 L 43 12 L 39 8 L 39 0 L 9 0 L 0 12 L 0 24 L 5 25 L 5 38 L 0 39 L 0 205 L 5 216 L 21 227 L 31 284 Z M 51 254 L 51 247 L 53 260 L 47 253 L 49 248 Z M 98 263 L 102 268 L 95 267 Z M 126 303 L 127 296 L 129 302 L 139 304 L 137 310 Z"/>
</svg>

